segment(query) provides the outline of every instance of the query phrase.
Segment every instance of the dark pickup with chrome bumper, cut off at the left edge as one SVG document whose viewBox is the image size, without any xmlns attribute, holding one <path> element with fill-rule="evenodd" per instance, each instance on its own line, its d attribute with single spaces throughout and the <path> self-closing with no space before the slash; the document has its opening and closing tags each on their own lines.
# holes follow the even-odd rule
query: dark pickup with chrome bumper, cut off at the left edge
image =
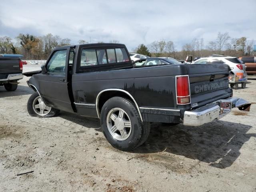
<svg viewBox="0 0 256 192">
<path fill-rule="evenodd" d="M 15 91 L 18 80 L 22 79 L 22 55 L 0 54 L 0 86 L 7 91 Z"/>
</svg>

